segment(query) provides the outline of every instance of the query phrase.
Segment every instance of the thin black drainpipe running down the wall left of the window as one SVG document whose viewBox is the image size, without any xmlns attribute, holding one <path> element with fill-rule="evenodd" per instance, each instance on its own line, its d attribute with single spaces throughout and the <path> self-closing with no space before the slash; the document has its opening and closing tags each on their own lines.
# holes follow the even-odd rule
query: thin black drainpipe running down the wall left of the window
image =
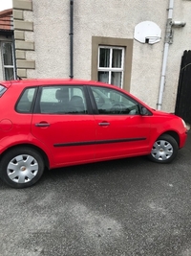
<svg viewBox="0 0 191 256">
<path fill-rule="evenodd" d="M 73 26 L 73 20 L 74 20 L 74 1 L 70 0 L 70 78 L 73 79 L 74 78 L 74 74 L 73 74 L 73 69 L 74 69 L 74 63 L 73 63 L 73 59 L 74 59 L 74 53 L 73 53 L 73 49 L 74 49 L 74 42 L 73 42 L 73 37 L 74 37 L 74 26 Z"/>
</svg>

